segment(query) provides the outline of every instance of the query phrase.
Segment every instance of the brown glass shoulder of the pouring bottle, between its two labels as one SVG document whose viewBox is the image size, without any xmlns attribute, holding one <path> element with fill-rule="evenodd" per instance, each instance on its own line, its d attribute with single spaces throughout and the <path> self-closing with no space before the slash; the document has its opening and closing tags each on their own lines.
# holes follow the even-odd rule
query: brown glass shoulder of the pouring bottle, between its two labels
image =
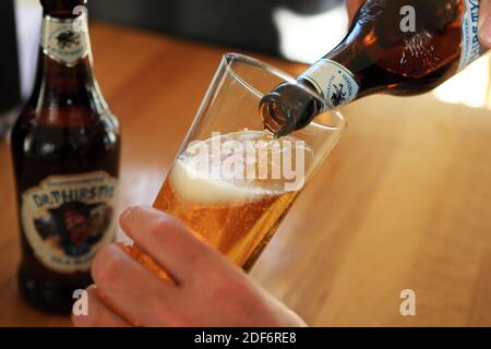
<svg viewBox="0 0 491 349">
<path fill-rule="evenodd" d="M 415 9 L 416 32 L 400 29 L 403 5 Z M 456 73 L 463 12 L 463 0 L 368 1 L 326 58 L 355 74 L 359 97 L 426 93 Z"/>
</svg>

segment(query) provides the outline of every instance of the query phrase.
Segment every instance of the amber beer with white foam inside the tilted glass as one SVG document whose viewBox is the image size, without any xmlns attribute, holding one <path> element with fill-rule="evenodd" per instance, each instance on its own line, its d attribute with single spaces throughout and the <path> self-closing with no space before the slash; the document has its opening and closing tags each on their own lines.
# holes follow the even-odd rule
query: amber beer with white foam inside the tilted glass
<svg viewBox="0 0 491 349">
<path fill-rule="evenodd" d="M 283 168 L 299 160 L 298 172 Z M 262 131 L 214 135 L 181 154 L 155 207 L 249 269 L 303 186 L 288 188 L 291 174 L 304 172 L 313 160 L 313 151 L 291 136 L 264 141 Z"/>
</svg>

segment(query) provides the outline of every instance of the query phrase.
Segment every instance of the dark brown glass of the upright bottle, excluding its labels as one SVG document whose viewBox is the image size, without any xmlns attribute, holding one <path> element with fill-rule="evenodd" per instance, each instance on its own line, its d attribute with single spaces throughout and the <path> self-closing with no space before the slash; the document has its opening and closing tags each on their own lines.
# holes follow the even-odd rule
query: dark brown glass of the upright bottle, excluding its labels
<svg viewBox="0 0 491 349">
<path fill-rule="evenodd" d="M 52 2 L 60 4 L 67 5 Z M 71 16 L 71 10 L 64 14 Z M 105 171 L 118 178 L 119 123 L 97 87 L 88 57 L 69 68 L 39 52 L 33 95 L 12 130 L 11 143 L 19 213 L 24 191 L 50 176 Z M 19 227 L 21 294 L 43 311 L 70 313 L 73 291 L 92 284 L 91 272 L 64 274 L 45 266 L 27 242 L 21 215 Z"/>
</svg>

